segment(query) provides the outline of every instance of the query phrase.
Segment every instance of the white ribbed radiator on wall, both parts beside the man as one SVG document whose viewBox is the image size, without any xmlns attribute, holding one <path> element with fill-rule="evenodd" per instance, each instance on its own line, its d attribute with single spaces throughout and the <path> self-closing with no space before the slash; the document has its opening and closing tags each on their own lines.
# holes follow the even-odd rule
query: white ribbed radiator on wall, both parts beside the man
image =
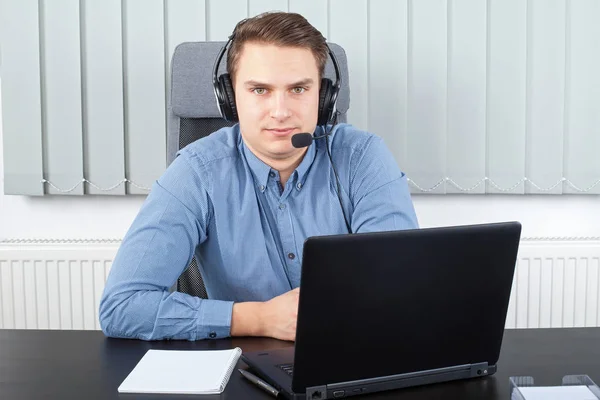
<svg viewBox="0 0 600 400">
<path fill-rule="evenodd" d="M 98 302 L 118 246 L 0 244 L 0 328 L 99 329 Z M 506 327 L 600 326 L 599 259 L 597 238 L 523 239 Z"/>
</svg>

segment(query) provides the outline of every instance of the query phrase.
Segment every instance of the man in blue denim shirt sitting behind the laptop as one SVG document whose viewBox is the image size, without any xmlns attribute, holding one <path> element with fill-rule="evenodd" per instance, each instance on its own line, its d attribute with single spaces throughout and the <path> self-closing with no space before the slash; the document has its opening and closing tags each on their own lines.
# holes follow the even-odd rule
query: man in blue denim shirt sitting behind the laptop
<svg viewBox="0 0 600 400">
<path fill-rule="evenodd" d="M 153 185 L 100 302 L 108 336 L 294 340 L 307 237 L 347 233 L 345 220 L 352 233 L 417 227 L 381 138 L 340 124 L 308 147 L 291 143 L 325 133 L 321 33 L 298 14 L 267 13 L 234 34 L 227 70 L 239 124 L 181 150 Z M 209 299 L 168 290 L 194 254 Z"/>
</svg>

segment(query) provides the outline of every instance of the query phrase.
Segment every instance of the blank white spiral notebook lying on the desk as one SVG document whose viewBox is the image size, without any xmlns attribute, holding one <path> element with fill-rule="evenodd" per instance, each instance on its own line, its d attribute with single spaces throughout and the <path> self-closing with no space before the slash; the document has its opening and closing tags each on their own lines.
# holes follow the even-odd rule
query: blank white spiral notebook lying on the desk
<svg viewBox="0 0 600 400">
<path fill-rule="evenodd" d="M 242 350 L 148 350 L 119 393 L 219 394 Z"/>
</svg>

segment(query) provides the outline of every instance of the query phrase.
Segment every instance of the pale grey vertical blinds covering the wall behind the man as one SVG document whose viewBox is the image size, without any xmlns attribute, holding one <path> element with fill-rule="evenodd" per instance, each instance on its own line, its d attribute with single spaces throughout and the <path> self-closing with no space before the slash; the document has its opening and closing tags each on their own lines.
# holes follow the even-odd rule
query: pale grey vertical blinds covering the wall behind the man
<svg viewBox="0 0 600 400">
<path fill-rule="evenodd" d="M 0 0 L 6 194 L 147 194 L 173 50 L 299 12 L 413 193 L 600 193 L 597 0 Z"/>
</svg>

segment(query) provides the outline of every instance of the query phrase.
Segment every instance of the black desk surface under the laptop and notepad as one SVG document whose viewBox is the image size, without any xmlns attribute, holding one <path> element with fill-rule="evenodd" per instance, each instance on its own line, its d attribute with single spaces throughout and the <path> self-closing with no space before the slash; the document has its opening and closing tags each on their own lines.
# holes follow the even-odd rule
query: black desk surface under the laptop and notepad
<svg viewBox="0 0 600 400">
<path fill-rule="evenodd" d="M 221 396 L 119 394 L 117 387 L 150 348 L 253 351 L 290 345 L 266 338 L 143 342 L 109 339 L 99 331 L 0 330 L 0 399 L 272 399 L 237 370 Z M 242 361 L 239 366 L 245 367 Z M 491 377 L 353 398 L 508 400 L 509 376 L 559 385 L 569 374 L 587 374 L 600 383 L 600 328 L 507 330 L 498 372 Z"/>
</svg>

